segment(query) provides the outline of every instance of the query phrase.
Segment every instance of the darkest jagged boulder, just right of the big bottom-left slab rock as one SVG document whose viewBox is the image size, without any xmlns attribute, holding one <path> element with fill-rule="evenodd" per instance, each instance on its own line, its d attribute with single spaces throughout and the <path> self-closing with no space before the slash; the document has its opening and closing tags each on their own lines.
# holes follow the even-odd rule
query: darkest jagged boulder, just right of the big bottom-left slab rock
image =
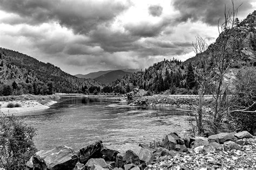
<svg viewBox="0 0 256 170">
<path fill-rule="evenodd" d="M 91 158 L 101 158 L 103 154 L 100 152 L 102 150 L 102 141 L 99 140 L 95 144 L 84 147 L 78 151 L 79 162 L 86 164 L 86 162 Z"/>
</svg>

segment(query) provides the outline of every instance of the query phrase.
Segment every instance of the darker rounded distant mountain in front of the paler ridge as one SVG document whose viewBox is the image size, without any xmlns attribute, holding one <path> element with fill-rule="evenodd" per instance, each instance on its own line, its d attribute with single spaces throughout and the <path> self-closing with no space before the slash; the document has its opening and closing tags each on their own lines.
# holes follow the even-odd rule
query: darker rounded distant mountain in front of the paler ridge
<svg viewBox="0 0 256 170">
<path fill-rule="evenodd" d="M 124 72 L 123 70 L 113 70 L 112 72 L 103 74 L 99 77 L 96 77 L 95 80 L 99 81 L 100 83 L 112 83 L 113 81 L 116 81 L 118 79 L 121 79 L 125 75 L 130 75 L 131 72 Z"/>
</svg>

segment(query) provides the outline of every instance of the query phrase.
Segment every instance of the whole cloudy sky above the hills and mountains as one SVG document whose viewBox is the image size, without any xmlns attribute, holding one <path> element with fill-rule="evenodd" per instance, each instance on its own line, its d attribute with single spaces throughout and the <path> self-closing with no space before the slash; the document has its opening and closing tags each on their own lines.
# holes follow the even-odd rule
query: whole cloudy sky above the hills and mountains
<svg viewBox="0 0 256 170">
<path fill-rule="evenodd" d="M 242 3 L 238 18 L 256 9 Z M 193 56 L 200 35 L 211 43 L 230 0 L 0 0 L 0 47 L 50 62 L 70 74 L 146 68 Z"/>
</svg>

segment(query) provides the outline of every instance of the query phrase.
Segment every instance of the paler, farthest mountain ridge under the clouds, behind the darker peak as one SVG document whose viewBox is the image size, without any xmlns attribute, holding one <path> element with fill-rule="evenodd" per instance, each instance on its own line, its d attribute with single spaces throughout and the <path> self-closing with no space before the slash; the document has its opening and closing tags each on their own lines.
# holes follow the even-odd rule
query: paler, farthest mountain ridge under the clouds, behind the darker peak
<svg viewBox="0 0 256 170">
<path fill-rule="evenodd" d="M 123 70 L 124 72 L 134 73 L 134 72 L 138 72 L 139 69 L 119 69 L 119 70 Z M 107 74 L 112 71 L 115 71 L 115 70 L 111 69 L 111 70 L 104 70 L 99 72 L 92 72 L 88 74 L 76 74 L 75 76 L 79 78 L 84 78 L 84 79 L 95 79 L 101 75 Z"/>
</svg>

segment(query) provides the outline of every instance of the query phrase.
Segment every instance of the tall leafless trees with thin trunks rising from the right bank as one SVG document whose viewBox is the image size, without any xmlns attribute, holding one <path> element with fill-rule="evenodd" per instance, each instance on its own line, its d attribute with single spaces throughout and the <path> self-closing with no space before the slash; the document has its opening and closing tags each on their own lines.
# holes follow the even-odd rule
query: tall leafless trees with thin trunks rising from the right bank
<svg viewBox="0 0 256 170">
<path fill-rule="evenodd" d="M 224 78 L 232 62 L 240 55 L 239 33 L 235 30 L 235 18 L 237 18 L 238 8 L 224 12 L 224 23 L 219 25 L 219 38 L 216 42 L 208 46 L 205 40 L 199 36 L 193 42 L 193 50 L 198 55 L 197 83 L 199 84 L 199 109 L 198 109 L 198 129 L 203 132 L 203 96 L 206 92 L 211 93 L 214 98 L 213 129 L 217 133 L 217 127 L 227 109 L 227 87 L 223 86 Z"/>
</svg>

